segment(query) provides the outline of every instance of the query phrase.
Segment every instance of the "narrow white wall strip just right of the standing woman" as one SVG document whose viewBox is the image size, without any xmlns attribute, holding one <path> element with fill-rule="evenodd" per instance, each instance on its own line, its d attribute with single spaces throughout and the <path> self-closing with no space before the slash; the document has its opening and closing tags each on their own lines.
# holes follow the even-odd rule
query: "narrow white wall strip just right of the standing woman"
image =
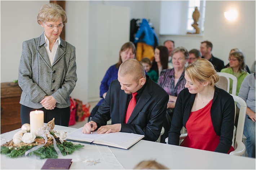
<svg viewBox="0 0 256 170">
<path fill-rule="evenodd" d="M 89 1 L 66 1 L 66 41 L 76 47 L 76 81 L 70 96 L 88 102 Z"/>
</svg>

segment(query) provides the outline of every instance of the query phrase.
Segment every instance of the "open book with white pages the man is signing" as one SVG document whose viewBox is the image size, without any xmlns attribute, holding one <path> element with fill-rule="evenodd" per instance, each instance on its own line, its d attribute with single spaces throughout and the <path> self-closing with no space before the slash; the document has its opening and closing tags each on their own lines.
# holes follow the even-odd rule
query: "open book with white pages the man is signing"
<svg viewBox="0 0 256 170">
<path fill-rule="evenodd" d="M 84 134 L 82 133 L 82 130 L 83 127 L 76 129 L 73 132 L 70 132 L 69 134 L 67 134 L 67 140 L 74 142 L 107 145 L 122 149 L 129 149 L 142 138 L 144 138 L 144 135 L 124 132 L 98 134 L 96 131 L 94 131 L 92 134 Z"/>
</svg>

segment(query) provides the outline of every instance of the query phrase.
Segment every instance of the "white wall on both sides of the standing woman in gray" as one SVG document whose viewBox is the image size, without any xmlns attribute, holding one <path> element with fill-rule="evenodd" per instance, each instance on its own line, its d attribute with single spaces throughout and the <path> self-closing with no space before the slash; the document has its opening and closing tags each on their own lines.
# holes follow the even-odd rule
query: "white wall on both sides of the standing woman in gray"
<svg viewBox="0 0 256 170">
<path fill-rule="evenodd" d="M 40 7 L 49 1 L 1 1 L 1 82 L 18 79 L 22 42 L 39 37 Z M 76 47 L 78 81 L 71 96 L 88 102 L 89 1 L 66 1 L 66 41 Z M 82 38 L 81 38 L 82 37 Z"/>
</svg>

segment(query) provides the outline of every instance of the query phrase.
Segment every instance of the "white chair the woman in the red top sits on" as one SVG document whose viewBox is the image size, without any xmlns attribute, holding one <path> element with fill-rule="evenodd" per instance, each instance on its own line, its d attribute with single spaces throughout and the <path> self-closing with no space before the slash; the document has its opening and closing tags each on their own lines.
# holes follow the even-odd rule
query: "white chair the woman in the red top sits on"
<svg viewBox="0 0 256 170">
<path fill-rule="evenodd" d="M 233 136 L 233 140 L 235 141 L 235 145 L 234 145 L 235 150 L 233 152 L 230 152 L 230 155 L 241 156 L 246 151 L 246 147 L 242 142 L 242 140 L 243 140 L 243 128 L 244 128 L 244 120 L 245 120 L 247 105 L 242 98 L 236 95 L 232 95 L 232 96 L 234 101 L 240 104 L 240 111 L 239 111 L 239 118 L 238 118 L 238 124 L 237 124 L 237 131 L 235 136 Z M 185 139 L 186 136 L 187 136 L 187 133 L 181 134 L 180 140 Z M 165 139 L 165 142 L 168 144 L 168 137 Z"/>
</svg>

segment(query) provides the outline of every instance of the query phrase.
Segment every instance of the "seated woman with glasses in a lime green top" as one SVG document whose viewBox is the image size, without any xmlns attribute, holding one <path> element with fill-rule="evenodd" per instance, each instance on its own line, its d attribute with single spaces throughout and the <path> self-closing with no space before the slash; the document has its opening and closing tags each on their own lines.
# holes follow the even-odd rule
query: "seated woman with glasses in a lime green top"
<svg viewBox="0 0 256 170">
<path fill-rule="evenodd" d="M 245 62 L 244 62 L 244 55 L 242 52 L 233 52 L 229 55 L 229 68 L 222 69 L 220 72 L 226 72 L 229 74 L 234 75 L 237 77 L 237 93 L 238 95 L 240 86 L 243 82 L 244 77 L 249 75 L 247 71 L 245 71 Z M 230 79 L 230 91 L 232 93 L 232 84 L 233 81 Z"/>
</svg>

